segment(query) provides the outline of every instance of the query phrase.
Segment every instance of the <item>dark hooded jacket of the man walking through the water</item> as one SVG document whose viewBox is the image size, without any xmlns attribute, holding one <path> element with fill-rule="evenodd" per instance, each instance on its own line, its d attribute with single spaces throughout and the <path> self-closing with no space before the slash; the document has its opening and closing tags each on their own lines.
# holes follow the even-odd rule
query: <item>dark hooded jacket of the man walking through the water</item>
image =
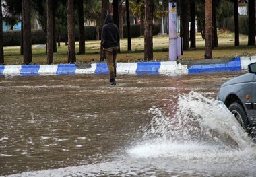
<svg viewBox="0 0 256 177">
<path fill-rule="evenodd" d="M 119 29 L 117 25 L 114 24 L 113 17 L 109 13 L 106 15 L 105 24 L 101 32 L 101 39 L 104 48 L 119 46 Z"/>
</svg>

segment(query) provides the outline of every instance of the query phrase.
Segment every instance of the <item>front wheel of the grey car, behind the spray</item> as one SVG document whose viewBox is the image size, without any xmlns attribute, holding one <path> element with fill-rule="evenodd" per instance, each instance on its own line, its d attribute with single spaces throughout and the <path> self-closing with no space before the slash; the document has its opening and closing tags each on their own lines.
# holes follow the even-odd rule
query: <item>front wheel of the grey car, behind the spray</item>
<svg viewBox="0 0 256 177">
<path fill-rule="evenodd" d="M 243 107 L 241 106 L 241 104 L 238 104 L 237 102 L 234 102 L 232 104 L 230 104 L 230 106 L 228 107 L 228 109 L 230 110 L 230 112 L 232 114 L 234 114 L 234 117 L 236 118 L 236 120 L 238 121 L 238 123 L 244 128 L 246 129 L 246 125 L 245 125 L 245 120 L 247 118 L 247 115 L 245 113 L 245 110 L 243 109 Z"/>
</svg>

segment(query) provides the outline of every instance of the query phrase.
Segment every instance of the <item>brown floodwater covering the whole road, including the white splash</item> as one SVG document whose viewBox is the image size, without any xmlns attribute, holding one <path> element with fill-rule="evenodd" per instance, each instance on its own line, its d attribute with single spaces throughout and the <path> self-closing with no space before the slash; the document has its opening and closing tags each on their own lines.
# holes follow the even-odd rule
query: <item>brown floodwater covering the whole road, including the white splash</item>
<svg viewBox="0 0 256 177">
<path fill-rule="evenodd" d="M 215 100 L 241 74 L 0 77 L 0 176 L 255 176 Z"/>
</svg>

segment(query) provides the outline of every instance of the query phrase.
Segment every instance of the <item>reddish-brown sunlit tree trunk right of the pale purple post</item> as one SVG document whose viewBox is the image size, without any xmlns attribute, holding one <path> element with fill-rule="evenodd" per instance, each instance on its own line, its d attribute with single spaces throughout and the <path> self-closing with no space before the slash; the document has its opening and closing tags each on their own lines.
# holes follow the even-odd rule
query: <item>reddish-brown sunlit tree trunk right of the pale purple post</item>
<svg viewBox="0 0 256 177">
<path fill-rule="evenodd" d="M 212 0 L 205 0 L 205 55 L 212 59 Z"/>
</svg>

